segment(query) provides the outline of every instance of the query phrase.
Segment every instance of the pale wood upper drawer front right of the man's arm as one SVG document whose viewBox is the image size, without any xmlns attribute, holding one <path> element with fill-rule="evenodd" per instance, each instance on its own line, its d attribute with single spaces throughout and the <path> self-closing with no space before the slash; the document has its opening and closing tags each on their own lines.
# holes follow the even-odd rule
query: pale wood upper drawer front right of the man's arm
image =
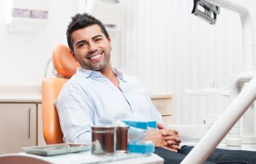
<svg viewBox="0 0 256 164">
<path fill-rule="evenodd" d="M 171 98 L 152 99 L 152 102 L 162 116 L 171 115 Z"/>
</svg>

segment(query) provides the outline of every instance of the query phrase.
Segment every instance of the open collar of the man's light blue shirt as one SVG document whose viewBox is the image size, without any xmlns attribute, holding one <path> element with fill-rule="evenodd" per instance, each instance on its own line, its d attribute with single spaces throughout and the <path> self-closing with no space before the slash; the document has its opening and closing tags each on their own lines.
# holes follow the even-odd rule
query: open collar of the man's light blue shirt
<svg viewBox="0 0 256 164">
<path fill-rule="evenodd" d="M 116 77 L 121 79 L 123 82 L 127 82 L 127 80 L 124 78 L 124 74 L 119 69 L 113 68 L 113 72 L 114 72 L 114 74 L 116 74 Z M 83 69 L 81 67 L 77 68 L 77 73 L 83 74 L 86 78 L 88 78 L 88 77 L 94 77 L 94 78 L 103 77 L 99 71 Z"/>
</svg>

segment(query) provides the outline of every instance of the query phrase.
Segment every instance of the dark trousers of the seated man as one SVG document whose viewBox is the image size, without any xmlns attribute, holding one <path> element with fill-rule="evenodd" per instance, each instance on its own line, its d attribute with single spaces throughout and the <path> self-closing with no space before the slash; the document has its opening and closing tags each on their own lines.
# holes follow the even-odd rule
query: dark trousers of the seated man
<svg viewBox="0 0 256 164">
<path fill-rule="evenodd" d="M 170 152 L 167 149 L 156 148 L 155 154 L 165 159 L 164 164 L 178 164 L 186 157 L 193 147 L 183 146 L 177 152 Z M 207 164 L 230 163 L 230 164 L 256 164 L 256 152 L 246 150 L 215 149 L 208 157 Z"/>
</svg>

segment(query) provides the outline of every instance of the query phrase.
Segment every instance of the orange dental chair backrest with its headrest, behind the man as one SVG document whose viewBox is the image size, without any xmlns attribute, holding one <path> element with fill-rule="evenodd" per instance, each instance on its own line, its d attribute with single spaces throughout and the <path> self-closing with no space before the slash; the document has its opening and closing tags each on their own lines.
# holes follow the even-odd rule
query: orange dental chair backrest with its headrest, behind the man
<svg viewBox="0 0 256 164">
<path fill-rule="evenodd" d="M 63 134 L 55 100 L 64 83 L 75 74 L 80 65 L 72 57 L 69 47 L 62 44 L 53 50 L 52 61 L 56 77 L 45 78 L 42 81 L 42 130 L 46 144 L 59 144 L 63 142 Z"/>
</svg>

